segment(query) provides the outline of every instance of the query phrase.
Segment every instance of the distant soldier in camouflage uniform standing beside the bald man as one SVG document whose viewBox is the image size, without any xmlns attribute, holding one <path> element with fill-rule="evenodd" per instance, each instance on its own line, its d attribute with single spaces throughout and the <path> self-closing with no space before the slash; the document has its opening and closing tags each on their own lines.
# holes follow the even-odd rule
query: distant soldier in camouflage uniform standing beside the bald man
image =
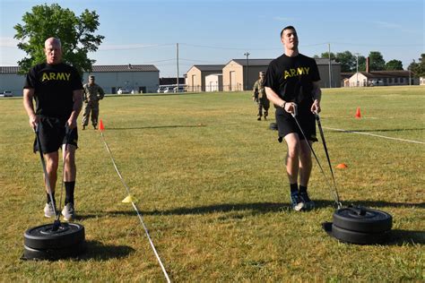
<svg viewBox="0 0 425 283">
<path fill-rule="evenodd" d="M 94 75 L 89 76 L 89 82 L 84 84 L 83 90 L 84 113 L 82 115 L 82 130 L 85 130 L 86 125 L 89 124 L 90 112 L 91 124 L 96 129 L 99 116 L 99 100 L 103 99 L 105 92 L 99 85 L 94 83 Z"/>
</svg>

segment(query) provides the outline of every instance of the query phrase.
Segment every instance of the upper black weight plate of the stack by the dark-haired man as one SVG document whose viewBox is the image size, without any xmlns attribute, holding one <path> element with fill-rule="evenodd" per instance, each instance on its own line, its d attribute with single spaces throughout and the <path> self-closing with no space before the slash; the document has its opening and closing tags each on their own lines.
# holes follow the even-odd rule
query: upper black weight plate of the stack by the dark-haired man
<svg viewBox="0 0 425 283">
<path fill-rule="evenodd" d="M 351 208 L 335 210 L 334 226 L 363 233 L 385 232 L 393 226 L 393 218 L 388 213 L 381 210 L 362 209 L 364 215 L 357 214 Z"/>
</svg>

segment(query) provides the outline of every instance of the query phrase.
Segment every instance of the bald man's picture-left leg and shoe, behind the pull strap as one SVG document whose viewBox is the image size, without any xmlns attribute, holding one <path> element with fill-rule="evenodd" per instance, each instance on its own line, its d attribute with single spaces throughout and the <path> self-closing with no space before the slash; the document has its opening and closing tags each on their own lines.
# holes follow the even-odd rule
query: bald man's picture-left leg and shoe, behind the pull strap
<svg viewBox="0 0 425 283">
<path fill-rule="evenodd" d="M 49 152 L 44 154 L 44 158 L 46 159 L 46 170 L 48 171 L 48 183 L 50 184 L 50 189 L 52 190 L 52 197 L 53 197 L 53 203 L 51 203 L 50 195 L 48 192 L 48 184 L 46 184 L 46 198 L 47 203 L 44 208 L 44 216 L 51 218 L 55 216 L 55 210 L 56 210 L 56 200 L 55 200 L 55 188 L 56 188 L 56 180 L 57 180 L 57 166 L 58 166 L 58 159 L 59 154 L 57 151 L 55 152 Z"/>
</svg>

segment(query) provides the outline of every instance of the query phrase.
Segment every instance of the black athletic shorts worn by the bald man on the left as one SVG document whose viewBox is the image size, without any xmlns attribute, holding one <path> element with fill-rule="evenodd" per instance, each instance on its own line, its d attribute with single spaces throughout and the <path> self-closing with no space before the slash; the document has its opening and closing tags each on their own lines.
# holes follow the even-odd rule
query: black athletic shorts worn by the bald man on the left
<svg viewBox="0 0 425 283">
<path fill-rule="evenodd" d="M 50 153 L 59 150 L 63 144 L 72 144 L 78 148 L 78 131 L 69 129 L 66 121 L 54 117 L 41 116 L 39 121 L 39 142 L 43 153 Z M 34 152 L 39 150 L 37 138 L 34 141 Z"/>
</svg>

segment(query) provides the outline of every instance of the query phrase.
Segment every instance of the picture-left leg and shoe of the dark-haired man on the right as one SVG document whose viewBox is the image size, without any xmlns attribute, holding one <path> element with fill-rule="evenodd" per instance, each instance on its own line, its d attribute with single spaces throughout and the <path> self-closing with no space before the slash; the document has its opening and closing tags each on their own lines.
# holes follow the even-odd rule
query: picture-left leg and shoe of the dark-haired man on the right
<svg viewBox="0 0 425 283">
<path fill-rule="evenodd" d="M 301 202 L 298 192 L 298 175 L 299 175 L 299 136 L 297 133 L 289 133 L 284 137 L 288 146 L 286 155 L 286 173 L 291 185 L 291 202 L 292 209 L 301 210 L 304 203 Z"/>
</svg>

